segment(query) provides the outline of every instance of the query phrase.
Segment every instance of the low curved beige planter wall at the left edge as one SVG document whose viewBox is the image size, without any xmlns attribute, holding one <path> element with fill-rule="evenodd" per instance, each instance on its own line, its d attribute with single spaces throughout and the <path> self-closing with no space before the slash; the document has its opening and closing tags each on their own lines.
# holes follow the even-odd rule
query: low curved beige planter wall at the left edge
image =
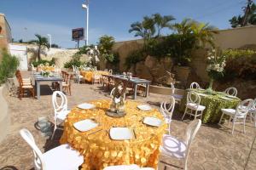
<svg viewBox="0 0 256 170">
<path fill-rule="evenodd" d="M 3 91 L 5 90 L 5 86 L 0 86 L 0 143 L 9 132 L 10 124 L 8 105 L 5 99 L 3 98 Z"/>
</svg>

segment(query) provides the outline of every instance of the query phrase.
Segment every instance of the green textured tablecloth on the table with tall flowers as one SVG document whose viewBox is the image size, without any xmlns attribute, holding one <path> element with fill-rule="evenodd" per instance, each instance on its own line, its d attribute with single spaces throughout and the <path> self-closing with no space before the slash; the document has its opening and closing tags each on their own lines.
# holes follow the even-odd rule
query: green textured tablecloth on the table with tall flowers
<svg viewBox="0 0 256 170">
<path fill-rule="evenodd" d="M 221 109 L 236 109 L 236 105 L 241 101 L 239 98 L 230 98 L 227 94 L 214 92 L 213 94 L 206 94 L 205 90 L 187 89 L 180 105 L 180 111 L 182 113 L 185 110 L 185 104 L 187 102 L 187 93 L 193 90 L 200 94 L 200 105 L 206 106 L 203 111 L 202 122 L 204 123 L 218 123 L 222 114 Z"/>
</svg>

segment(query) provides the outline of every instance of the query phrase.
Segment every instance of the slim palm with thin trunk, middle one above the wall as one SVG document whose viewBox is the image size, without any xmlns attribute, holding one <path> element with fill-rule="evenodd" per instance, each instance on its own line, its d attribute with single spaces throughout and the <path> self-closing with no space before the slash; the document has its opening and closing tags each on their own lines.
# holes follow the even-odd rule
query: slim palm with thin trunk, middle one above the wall
<svg viewBox="0 0 256 170">
<path fill-rule="evenodd" d="M 153 14 L 152 18 L 154 19 L 154 24 L 157 28 L 157 35 L 156 37 L 160 37 L 160 31 L 163 28 L 172 28 L 172 24 L 170 23 L 175 18 L 172 15 L 164 15 L 161 16 L 159 13 Z"/>
</svg>

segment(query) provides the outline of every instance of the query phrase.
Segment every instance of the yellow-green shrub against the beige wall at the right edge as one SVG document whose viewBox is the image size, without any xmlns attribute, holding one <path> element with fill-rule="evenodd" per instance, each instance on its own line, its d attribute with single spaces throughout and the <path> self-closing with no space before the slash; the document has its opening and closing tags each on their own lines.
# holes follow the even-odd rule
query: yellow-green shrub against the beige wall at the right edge
<svg viewBox="0 0 256 170">
<path fill-rule="evenodd" d="M 224 80 L 242 78 L 256 80 L 256 52 L 253 50 L 228 49 L 224 51 L 226 66 Z"/>
</svg>

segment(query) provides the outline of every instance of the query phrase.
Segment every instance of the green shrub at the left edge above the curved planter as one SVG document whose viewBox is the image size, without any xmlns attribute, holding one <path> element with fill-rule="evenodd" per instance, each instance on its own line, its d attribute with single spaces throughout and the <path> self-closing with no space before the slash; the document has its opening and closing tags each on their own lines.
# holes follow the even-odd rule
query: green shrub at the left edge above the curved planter
<svg viewBox="0 0 256 170">
<path fill-rule="evenodd" d="M 2 55 L 3 58 L 0 63 L 0 84 L 6 82 L 7 78 L 13 77 L 20 64 L 19 59 L 8 54 L 6 50 L 3 50 Z"/>
</svg>

